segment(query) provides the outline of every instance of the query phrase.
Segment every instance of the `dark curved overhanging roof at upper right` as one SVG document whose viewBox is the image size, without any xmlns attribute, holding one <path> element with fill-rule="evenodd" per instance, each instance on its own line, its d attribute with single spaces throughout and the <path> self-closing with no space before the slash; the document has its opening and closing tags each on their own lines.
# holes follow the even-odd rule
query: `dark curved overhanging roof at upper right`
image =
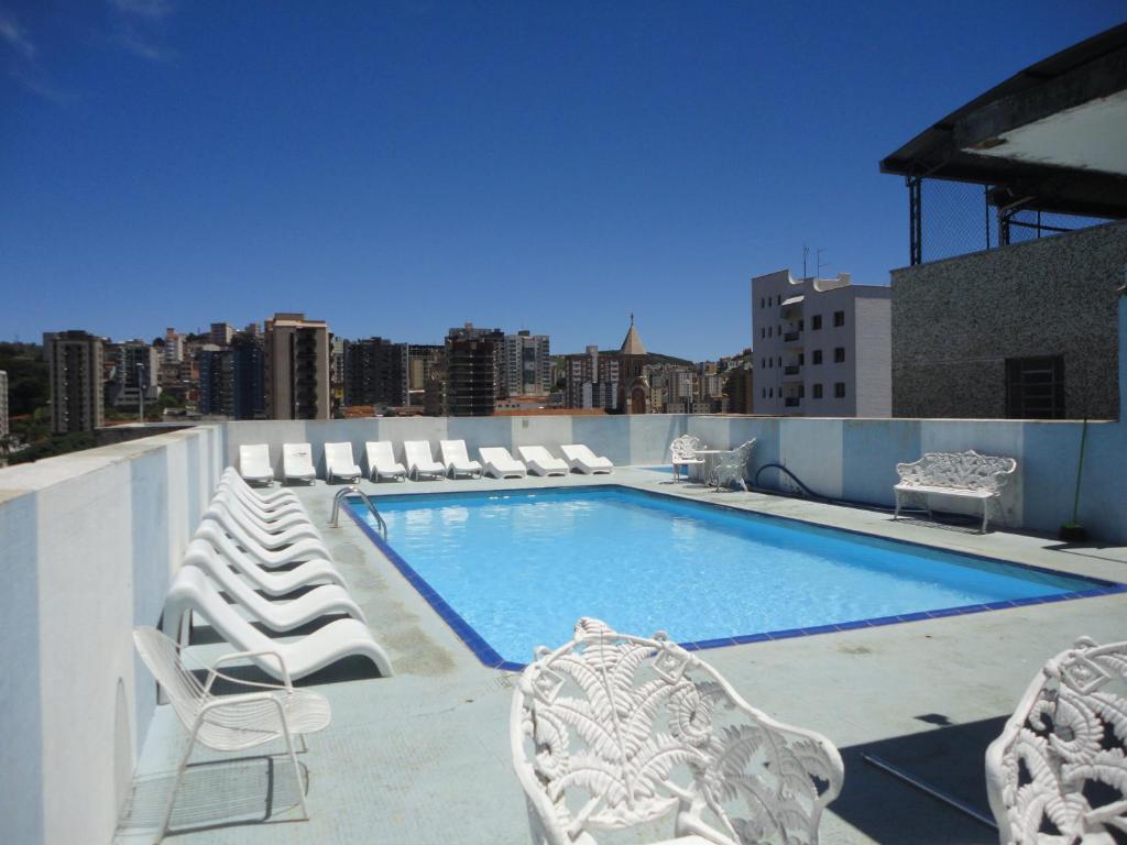
<svg viewBox="0 0 1127 845">
<path fill-rule="evenodd" d="M 991 185 L 995 205 L 1127 217 L 1127 24 L 992 88 L 880 170 Z"/>
</svg>

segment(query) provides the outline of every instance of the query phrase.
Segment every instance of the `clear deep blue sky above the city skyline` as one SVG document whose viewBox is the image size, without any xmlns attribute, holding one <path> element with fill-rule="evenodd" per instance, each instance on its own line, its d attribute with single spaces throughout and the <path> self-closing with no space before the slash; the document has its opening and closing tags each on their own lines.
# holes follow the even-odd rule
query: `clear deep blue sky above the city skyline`
<svg viewBox="0 0 1127 845">
<path fill-rule="evenodd" d="M 305 311 L 695 359 L 751 276 L 887 284 L 878 160 L 1122 0 L 0 0 L 0 339 Z"/>
</svg>

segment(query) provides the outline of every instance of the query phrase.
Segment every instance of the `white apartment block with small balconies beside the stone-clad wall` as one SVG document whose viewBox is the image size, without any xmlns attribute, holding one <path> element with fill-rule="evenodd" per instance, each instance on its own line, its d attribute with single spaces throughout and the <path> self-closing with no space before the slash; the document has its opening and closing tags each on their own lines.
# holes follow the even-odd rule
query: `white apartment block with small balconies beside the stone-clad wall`
<svg viewBox="0 0 1127 845">
<path fill-rule="evenodd" d="M 752 279 L 752 343 L 758 413 L 888 417 L 891 290 L 837 278 Z"/>
</svg>

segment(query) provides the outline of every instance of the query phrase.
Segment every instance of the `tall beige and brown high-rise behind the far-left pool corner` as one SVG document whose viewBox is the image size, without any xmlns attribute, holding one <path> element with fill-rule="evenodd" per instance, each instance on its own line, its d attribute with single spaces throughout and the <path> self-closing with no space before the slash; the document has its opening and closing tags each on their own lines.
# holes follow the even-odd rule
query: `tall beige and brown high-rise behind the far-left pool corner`
<svg viewBox="0 0 1127 845">
<path fill-rule="evenodd" d="M 266 321 L 266 416 L 328 419 L 329 327 L 302 313 Z"/>
</svg>

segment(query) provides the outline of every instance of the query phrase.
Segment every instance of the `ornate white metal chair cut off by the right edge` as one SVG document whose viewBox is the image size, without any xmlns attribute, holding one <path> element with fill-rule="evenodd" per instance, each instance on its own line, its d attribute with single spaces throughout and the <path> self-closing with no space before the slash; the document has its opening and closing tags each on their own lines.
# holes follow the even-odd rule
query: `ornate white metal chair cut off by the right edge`
<svg viewBox="0 0 1127 845">
<path fill-rule="evenodd" d="M 1003 845 L 1127 840 L 1127 642 L 1049 660 L 986 750 Z"/>
</svg>

